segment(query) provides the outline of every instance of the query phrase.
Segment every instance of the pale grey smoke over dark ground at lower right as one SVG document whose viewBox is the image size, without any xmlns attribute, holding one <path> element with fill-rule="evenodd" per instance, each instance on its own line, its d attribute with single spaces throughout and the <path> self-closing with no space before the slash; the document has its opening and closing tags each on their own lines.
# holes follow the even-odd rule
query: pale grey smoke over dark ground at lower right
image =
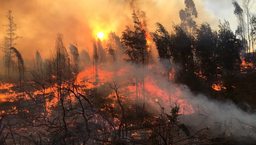
<svg viewBox="0 0 256 145">
<path fill-rule="evenodd" d="M 205 130 L 204 133 L 255 138 L 255 113 L 242 110 L 230 100 L 217 101 L 204 95 L 195 96 L 188 90 L 182 90 L 182 94 L 190 96 L 187 101 L 195 110 L 194 114 L 185 116 L 184 121 L 192 129 L 209 127 L 211 130 Z"/>
</svg>

